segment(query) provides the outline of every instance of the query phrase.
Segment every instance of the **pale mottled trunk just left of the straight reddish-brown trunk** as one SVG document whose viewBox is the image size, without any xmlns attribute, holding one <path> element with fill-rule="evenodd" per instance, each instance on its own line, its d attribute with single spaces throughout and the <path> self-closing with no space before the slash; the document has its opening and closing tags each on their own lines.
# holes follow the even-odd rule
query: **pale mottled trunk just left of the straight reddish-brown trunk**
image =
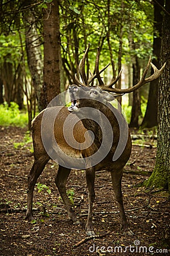
<svg viewBox="0 0 170 256">
<path fill-rule="evenodd" d="M 27 61 L 33 87 L 35 89 L 39 111 L 41 109 L 40 93 L 43 82 L 43 63 L 40 49 L 40 35 L 36 27 L 36 18 L 32 9 L 23 13 L 25 23 L 25 45 L 27 50 Z"/>
</svg>

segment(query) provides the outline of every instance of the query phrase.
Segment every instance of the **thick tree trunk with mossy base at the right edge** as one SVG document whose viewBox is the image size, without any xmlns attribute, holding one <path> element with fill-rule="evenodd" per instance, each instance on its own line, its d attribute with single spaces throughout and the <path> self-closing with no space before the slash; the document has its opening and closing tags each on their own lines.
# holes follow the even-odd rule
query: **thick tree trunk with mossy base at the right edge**
<svg viewBox="0 0 170 256">
<path fill-rule="evenodd" d="M 159 82 L 158 102 L 158 148 L 156 164 L 147 186 L 166 188 L 170 190 L 170 1 L 165 1 L 165 11 L 162 25 L 161 64 L 166 61 L 165 71 Z"/>
</svg>

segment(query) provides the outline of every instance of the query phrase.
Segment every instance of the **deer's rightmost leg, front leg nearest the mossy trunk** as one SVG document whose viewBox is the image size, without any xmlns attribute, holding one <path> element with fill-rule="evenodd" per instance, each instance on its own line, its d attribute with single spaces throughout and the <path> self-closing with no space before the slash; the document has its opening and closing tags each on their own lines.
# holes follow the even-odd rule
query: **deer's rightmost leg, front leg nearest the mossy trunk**
<svg viewBox="0 0 170 256">
<path fill-rule="evenodd" d="M 133 236 L 134 233 L 130 230 L 128 221 L 126 220 L 126 215 L 125 215 L 124 203 L 122 198 L 122 189 L 121 189 L 122 174 L 123 174 L 122 170 L 111 172 L 112 185 L 113 185 L 114 193 L 118 203 L 118 207 L 120 209 L 122 229 L 129 236 Z"/>
</svg>

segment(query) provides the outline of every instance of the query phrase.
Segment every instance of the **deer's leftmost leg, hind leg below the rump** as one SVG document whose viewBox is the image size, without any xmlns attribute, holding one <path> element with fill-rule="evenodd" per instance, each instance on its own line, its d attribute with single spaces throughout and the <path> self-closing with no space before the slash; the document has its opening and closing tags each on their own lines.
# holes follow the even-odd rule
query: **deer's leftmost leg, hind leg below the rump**
<svg viewBox="0 0 170 256">
<path fill-rule="evenodd" d="M 44 170 L 45 164 L 49 161 L 48 155 L 43 155 L 38 160 L 35 160 L 31 171 L 28 175 L 28 191 L 27 191 L 27 213 L 26 218 L 29 221 L 33 220 L 32 214 L 32 199 L 33 199 L 33 189 L 35 187 L 36 181 L 38 177 L 41 175 L 42 171 Z"/>
</svg>

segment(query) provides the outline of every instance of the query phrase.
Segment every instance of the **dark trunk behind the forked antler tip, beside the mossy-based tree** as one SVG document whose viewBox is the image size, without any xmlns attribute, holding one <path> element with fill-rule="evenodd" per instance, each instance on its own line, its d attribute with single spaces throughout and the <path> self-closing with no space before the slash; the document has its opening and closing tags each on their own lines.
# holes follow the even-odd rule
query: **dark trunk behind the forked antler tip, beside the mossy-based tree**
<svg viewBox="0 0 170 256">
<path fill-rule="evenodd" d="M 158 5 L 159 3 L 159 5 Z M 160 63 L 160 47 L 162 38 L 162 7 L 164 6 L 164 0 L 158 0 L 158 3 L 154 1 L 154 49 L 153 55 L 156 59 L 152 63 L 159 68 Z M 158 35 L 159 33 L 159 35 Z M 152 71 L 153 73 L 153 71 Z M 151 73 L 151 74 L 152 74 Z M 159 80 L 152 81 L 150 83 L 150 90 L 148 95 L 148 102 L 145 117 L 141 127 L 154 127 L 158 125 L 158 92 L 159 92 Z"/>
</svg>

